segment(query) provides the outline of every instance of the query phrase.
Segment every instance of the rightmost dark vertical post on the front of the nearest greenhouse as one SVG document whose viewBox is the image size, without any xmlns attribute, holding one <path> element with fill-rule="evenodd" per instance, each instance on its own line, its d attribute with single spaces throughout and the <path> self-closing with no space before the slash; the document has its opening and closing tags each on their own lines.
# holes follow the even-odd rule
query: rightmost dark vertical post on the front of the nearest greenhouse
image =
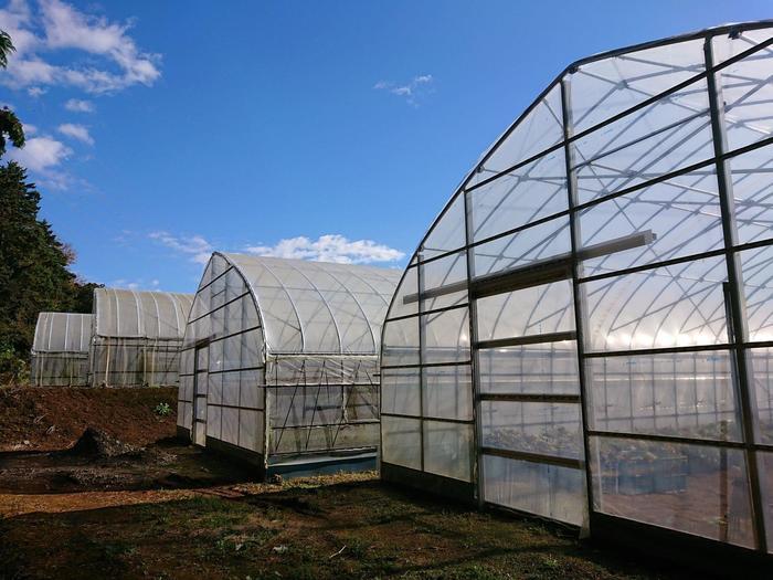
<svg viewBox="0 0 773 580">
<path fill-rule="evenodd" d="M 756 547 L 758 550 L 764 552 L 767 549 L 767 544 L 765 540 L 764 513 L 760 493 L 760 479 L 758 477 L 756 455 L 753 449 L 754 401 L 750 389 L 749 369 L 746 366 L 745 350 L 743 348 L 748 335 L 746 307 L 743 295 L 743 272 L 738 253 L 734 251 L 734 246 L 738 244 L 738 230 L 735 226 L 733 183 L 728 161 L 722 158 L 727 152 L 724 99 L 722 98 L 722 85 L 717 82 L 717 73 L 713 71 L 714 57 L 711 41 L 711 35 L 706 38 L 703 56 L 707 72 L 707 88 L 709 92 L 709 110 L 711 114 L 711 135 L 716 157 L 717 187 L 722 215 L 722 232 L 724 234 L 724 255 L 728 267 L 727 289 L 730 302 L 728 313 L 729 320 L 727 321 L 728 340 L 734 346 L 734 368 L 738 378 L 738 397 L 741 404 L 743 442 L 745 444 L 746 470 L 751 486 Z"/>
</svg>

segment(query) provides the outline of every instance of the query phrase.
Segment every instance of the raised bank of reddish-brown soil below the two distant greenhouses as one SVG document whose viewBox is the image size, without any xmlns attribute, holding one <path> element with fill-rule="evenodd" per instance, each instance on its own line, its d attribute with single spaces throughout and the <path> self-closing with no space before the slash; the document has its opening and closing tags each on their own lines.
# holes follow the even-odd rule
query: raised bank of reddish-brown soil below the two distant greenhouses
<svg viewBox="0 0 773 580">
<path fill-rule="evenodd" d="M 167 403 L 171 413 L 153 410 Z M 72 446 L 88 426 L 131 445 L 174 435 L 177 388 L 0 388 L 0 451 Z"/>
</svg>

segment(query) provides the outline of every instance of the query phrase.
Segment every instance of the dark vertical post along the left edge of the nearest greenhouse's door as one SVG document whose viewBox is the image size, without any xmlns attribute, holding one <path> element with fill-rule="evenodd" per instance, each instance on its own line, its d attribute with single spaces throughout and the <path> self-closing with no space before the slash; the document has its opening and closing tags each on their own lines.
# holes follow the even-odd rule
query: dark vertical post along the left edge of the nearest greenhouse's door
<svg viewBox="0 0 773 580">
<path fill-rule="evenodd" d="M 473 229 L 473 202 L 469 199 L 469 193 L 465 190 L 464 196 L 464 223 L 465 223 L 465 257 L 467 259 L 467 321 L 469 323 L 469 378 L 470 389 L 473 390 L 473 435 L 475 440 L 475 449 L 470 462 L 470 478 L 475 485 L 475 495 L 478 500 L 478 506 L 485 504 L 484 497 L 484 462 L 480 457 L 483 449 L 483 425 L 480 424 L 480 393 L 478 377 L 478 310 L 475 299 L 473 298 L 473 278 L 475 277 L 475 249 L 470 244 L 475 241 L 475 231 Z"/>
</svg>

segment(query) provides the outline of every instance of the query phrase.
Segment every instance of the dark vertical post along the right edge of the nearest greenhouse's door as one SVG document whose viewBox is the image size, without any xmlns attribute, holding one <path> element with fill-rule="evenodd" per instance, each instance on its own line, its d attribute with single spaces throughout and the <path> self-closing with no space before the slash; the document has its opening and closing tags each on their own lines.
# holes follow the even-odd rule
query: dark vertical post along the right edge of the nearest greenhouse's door
<svg viewBox="0 0 773 580">
<path fill-rule="evenodd" d="M 574 148 L 570 139 L 574 135 L 571 107 L 570 71 L 561 78 L 561 112 L 563 118 L 564 162 L 566 168 L 566 196 L 569 200 L 569 230 L 572 242 L 572 294 L 574 298 L 574 326 L 576 333 L 578 370 L 580 372 L 580 413 L 582 418 L 582 442 L 585 452 L 585 492 L 587 494 L 587 529 L 591 534 L 591 512 L 593 510 L 593 479 L 591 474 L 591 449 L 587 436 L 589 413 L 592 409 L 587 377 L 585 369 L 585 328 L 587 327 L 587 298 L 585 288 L 579 283 L 582 277 L 582 264 L 578 257 L 578 251 L 582 245 L 580 234 L 580 217 L 575 211 L 578 205 L 578 176 L 574 171 Z"/>
</svg>

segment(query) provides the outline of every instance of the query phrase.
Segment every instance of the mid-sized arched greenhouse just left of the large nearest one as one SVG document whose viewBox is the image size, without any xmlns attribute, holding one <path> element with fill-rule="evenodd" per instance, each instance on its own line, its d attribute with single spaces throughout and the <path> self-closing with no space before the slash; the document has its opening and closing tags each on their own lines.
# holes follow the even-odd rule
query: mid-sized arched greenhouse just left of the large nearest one
<svg viewBox="0 0 773 580">
<path fill-rule="evenodd" d="M 186 330 L 178 432 L 261 476 L 375 465 L 396 270 L 214 253 Z"/>
</svg>

